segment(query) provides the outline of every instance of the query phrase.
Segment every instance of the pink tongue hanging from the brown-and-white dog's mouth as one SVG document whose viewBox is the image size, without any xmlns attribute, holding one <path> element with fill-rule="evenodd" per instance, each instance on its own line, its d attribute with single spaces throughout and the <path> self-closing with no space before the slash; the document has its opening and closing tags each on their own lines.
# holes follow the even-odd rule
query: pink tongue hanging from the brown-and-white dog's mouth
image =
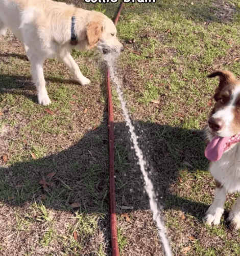
<svg viewBox="0 0 240 256">
<path fill-rule="evenodd" d="M 224 152 L 224 145 L 231 137 L 214 137 L 207 145 L 205 150 L 205 157 L 210 161 L 218 161 Z"/>
</svg>

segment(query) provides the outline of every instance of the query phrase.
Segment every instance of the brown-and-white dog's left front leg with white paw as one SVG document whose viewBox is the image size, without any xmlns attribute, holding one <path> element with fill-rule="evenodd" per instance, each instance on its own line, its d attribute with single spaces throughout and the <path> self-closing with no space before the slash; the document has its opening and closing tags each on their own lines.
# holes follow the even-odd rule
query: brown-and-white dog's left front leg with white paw
<svg viewBox="0 0 240 256">
<path fill-rule="evenodd" d="M 215 187 L 215 197 L 213 203 L 208 208 L 205 221 L 208 225 L 218 225 L 224 212 L 224 202 L 226 200 L 227 191 L 224 187 Z"/>
</svg>

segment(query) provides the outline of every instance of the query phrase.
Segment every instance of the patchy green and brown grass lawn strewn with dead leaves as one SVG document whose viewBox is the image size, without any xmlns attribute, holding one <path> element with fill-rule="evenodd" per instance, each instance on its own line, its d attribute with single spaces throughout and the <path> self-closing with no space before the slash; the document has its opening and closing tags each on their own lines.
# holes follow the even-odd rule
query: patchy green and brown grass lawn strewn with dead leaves
<svg viewBox="0 0 240 256">
<path fill-rule="evenodd" d="M 71 3 L 106 10 L 111 18 L 118 6 Z M 165 200 L 162 213 L 174 255 L 240 251 L 239 232 L 226 223 L 238 194 L 228 195 L 219 226 L 202 221 L 214 197 L 202 129 L 218 84 L 206 75 L 227 69 L 240 77 L 239 3 L 226 3 L 126 4 L 117 25 L 125 45 L 119 77 L 159 200 Z M 52 100 L 46 108 L 37 104 L 20 42 L 9 33 L 0 39 L 0 49 L 1 253 L 110 255 L 107 97 L 100 55 L 73 51 L 91 79 L 86 87 L 62 63 L 45 61 Z M 112 94 L 121 255 L 163 255 L 114 88 Z M 47 189 L 39 184 L 43 178 L 51 184 Z"/>
</svg>

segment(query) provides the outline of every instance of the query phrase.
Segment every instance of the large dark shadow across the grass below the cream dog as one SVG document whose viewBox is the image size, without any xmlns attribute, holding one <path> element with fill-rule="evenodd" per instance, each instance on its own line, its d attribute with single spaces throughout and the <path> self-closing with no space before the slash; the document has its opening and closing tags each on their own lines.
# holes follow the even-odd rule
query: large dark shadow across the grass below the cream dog
<svg viewBox="0 0 240 256">
<path fill-rule="evenodd" d="M 171 196 L 169 186 L 176 182 L 179 170 L 186 168 L 184 162 L 193 166 L 187 167 L 190 172 L 207 169 L 202 132 L 151 123 L 135 122 L 134 125 L 140 148 L 149 163 L 149 177 L 159 202 L 163 203 Z M 31 156 L 31 146 L 21 150 Z M 115 172 L 117 210 L 121 212 L 121 206 L 127 205 L 134 210 L 149 208 L 125 123 L 115 124 Z M 50 173 L 56 175 L 48 178 Z M 46 185 L 46 189 L 39 184 L 43 178 L 51 183 Z M 108 132 L 105 123 L 58 154 L 0 168 L 0 199 L 7 204 L 21 205 L 29 200 L 40 201 L 45 195 L 43 202 L 49 207 L 68 210 L 77 202 L 81 212 L 106 213 L 109 205 L 108 179 Z M 187 200 L 184 202 L 192 204 Z M 171 204 L 167 205 L 169 208 Z M 191 210 L 189 214 L 195 215 Z"/>
</svg>

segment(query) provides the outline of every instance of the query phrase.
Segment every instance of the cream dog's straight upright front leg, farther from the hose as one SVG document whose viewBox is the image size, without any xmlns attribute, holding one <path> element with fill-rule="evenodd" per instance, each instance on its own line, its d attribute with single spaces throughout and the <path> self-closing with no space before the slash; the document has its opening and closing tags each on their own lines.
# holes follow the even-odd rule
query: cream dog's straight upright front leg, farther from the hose
<svg viewBox="0 0 240 256">
<path fill-rule="evenodd" d="M 29 58 L 29 56 L 28 56 Z M 42 105 L 48 105 L 51 103 L 51 100 L 49 96 L 47 95 L 47 91 L 45 88 L 45 80 L 44 80 L 44 75 L 43 75 L 43 60 L 42 61 L 37 61 L 37 60 L 32 60 L 31 58 L 31 68 L 32 68 L 32 76 L 33 76 L 33 81 L 35 83 L 35 86 L 37 88 L 37 98 L 38 98 L 38 103 Z"/>
</svg>

